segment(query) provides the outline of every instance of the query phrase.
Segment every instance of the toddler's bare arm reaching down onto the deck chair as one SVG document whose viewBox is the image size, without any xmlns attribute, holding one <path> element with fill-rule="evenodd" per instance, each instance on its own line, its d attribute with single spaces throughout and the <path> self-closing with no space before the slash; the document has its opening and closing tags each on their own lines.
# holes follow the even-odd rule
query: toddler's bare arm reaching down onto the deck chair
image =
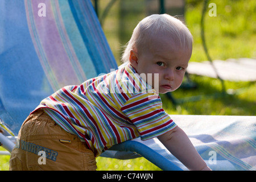
<svg viewBox="0 0 256 182">
<path fill-rule="evenodd" d="M 187 134 L 178 126 L 160 135 L 158 139 L 189 170 L 210 170 L 196 151 Z"/>
</svg>

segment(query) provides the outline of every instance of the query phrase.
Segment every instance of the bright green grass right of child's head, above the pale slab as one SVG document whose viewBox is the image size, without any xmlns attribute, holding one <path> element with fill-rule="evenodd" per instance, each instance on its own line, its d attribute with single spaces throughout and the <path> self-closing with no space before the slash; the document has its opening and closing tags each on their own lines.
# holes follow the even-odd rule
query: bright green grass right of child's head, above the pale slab
<svg viewBox="0 0 256 182">
<path fill-rule="evenodd" d="M 191 61 L 207 60 L 201 44 L 202 1 L 187 4 L 186 24 L 195 40 Z M 216 3 L 217 16 L 205 13 L 205 39 L 212 59 L 256 57 L 256 2 L 209 1 Z M 210 10 L 210 8 L 207 8 Z"/>
</svg>

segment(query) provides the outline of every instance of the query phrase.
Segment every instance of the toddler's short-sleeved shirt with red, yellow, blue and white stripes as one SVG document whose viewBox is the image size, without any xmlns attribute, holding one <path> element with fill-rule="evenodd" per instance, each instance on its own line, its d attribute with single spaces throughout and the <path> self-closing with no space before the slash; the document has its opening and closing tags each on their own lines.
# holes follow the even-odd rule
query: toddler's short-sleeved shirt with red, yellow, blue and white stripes
<svg viewBox="0 0 256 182">
<path fill-rule="evenodd" d="M 95 156 L 114 144 L 151 139 L 176 127 L 158 93 L 130 64 L 81 85 L 65 86 L 35 110 L 39 108 L 85 141 Z"/>
</svg>

